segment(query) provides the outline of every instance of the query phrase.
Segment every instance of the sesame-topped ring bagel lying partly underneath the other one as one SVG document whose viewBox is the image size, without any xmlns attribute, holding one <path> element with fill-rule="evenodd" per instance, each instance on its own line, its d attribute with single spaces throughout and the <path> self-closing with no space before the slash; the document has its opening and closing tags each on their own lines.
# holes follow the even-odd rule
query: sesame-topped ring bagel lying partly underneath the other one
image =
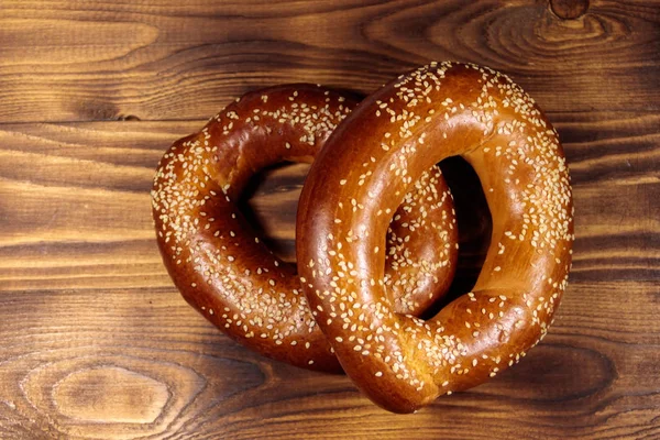
<svg viewBox="0 0 660 440">
<path fill-rule="evenodd" d="M 152 191 L 158 245 L 185 299 L 244 345 L 312 370 L 340 366 L 308 309 L 295 265 L 273 256 L 234 200 L 257 170 L 310 161 L 355 106 L 312 85 L 251 92 L 177 141 L 161 161 Z M 362 163 L 350 166 L 369 178 Z M 416 315 L 447 290 L 457 257 L 451 195 L 439 168 L 427 169 L 389 226 L 385 275 L 396 309 Z M 346 208 L 339 221 L 350 220 L 350 200 Z"/>
</svg>

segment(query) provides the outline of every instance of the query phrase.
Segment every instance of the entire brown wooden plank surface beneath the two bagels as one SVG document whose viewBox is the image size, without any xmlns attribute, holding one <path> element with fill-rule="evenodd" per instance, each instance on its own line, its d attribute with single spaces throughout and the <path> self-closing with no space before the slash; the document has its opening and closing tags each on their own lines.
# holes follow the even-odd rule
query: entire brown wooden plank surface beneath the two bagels
<svg viewBox="0 0 660 440">
<path fill-rule="evenodd" d="M 585 9 L 0 0 L 0 438 L 660 438 L 660 1 Z M 148 190 L 167 146 L 233 97 L 290 81 L 369 92 L 431 59 L 502 69 L 548 111 L 575 262 L 524 362 L 395 416 L 194 312 L 161 263 Z M 305 172 L 271 170 L 248 204 L 289 258 Z"/>
</svg>

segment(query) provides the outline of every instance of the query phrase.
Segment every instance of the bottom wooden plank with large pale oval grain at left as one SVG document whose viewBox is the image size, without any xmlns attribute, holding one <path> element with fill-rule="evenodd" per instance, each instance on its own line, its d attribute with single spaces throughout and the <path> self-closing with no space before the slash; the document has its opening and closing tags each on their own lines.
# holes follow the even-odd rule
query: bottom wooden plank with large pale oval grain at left
<svg viewBox="0 0 660 440">
<path fill-rule="evenodd" d="M 578 296 L 593 300 L 594 292 L 627 290 L 652 307 L 653 288 L 649 283 L 632 288 L 574 284 L 553 331 L 520 365 L 413 418 L 378 410 L 343 376 L 296 370 L 243 350 L 173 289 L 2 295 L 1 308 L 12 312 L 3 314 L 0 327 L 0 420 L 28 429 L 23 438 L 38 438 L 42 429 L 73 438 L 248 439 L 266 432 L 282 439 L 293 432 L 360 438 L 377 432 L 394 439 L 407 430 L 411 438 L 510 438 L 516 432 L 525 438 L 646 432 L 653 438 L 660 429 L 660 355 L 658 341 L 648 337 L 659 330 L 657 322 L 647 320 L 650 327 L 640 331 L 629 327 L 627 315 L 603 315 L 592 305 L 601 324 L 617 321 L 619 332 L 637 333 L 635 342 L 626 342 L 590 334 L 593 322 L 576 324 L 572 319 L 579 316 L 571 317 L 571 299 Z M 130 395 L 133 402 L 127 402 Z M 94 408 L 82 408 L 90 398 Z M 0 433 L 11 438 L 1 421 Z"/>
</svg>

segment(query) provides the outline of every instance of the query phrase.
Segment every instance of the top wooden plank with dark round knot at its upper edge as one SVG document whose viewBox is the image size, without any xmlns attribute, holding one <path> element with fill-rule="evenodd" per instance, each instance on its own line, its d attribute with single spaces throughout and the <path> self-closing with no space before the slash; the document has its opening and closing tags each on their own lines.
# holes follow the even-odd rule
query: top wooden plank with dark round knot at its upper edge
<svg viewBox="0 0 660 440">
<path fill-rule="evenodd" d="M 0 121 L 204 119 L 292 81 L 369 92 L 431 59 L 510 74 L 547 110 L 660 109 L 660 1 L 3 0 Z"/>
</svg>

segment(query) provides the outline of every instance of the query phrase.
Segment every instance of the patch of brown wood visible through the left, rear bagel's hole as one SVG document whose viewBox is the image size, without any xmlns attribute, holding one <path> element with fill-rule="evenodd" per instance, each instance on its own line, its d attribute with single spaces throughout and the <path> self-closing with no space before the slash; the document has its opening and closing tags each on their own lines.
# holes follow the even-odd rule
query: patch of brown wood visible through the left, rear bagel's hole
<svg viewBox="0 0 660 440">
<path fill-rule="evenodd" d="M 284 163 L 256 173 L 239 199 L 252 230 L 279 260 L 296 262 L 296 212 L 309 164 Z"/>
</svg>

